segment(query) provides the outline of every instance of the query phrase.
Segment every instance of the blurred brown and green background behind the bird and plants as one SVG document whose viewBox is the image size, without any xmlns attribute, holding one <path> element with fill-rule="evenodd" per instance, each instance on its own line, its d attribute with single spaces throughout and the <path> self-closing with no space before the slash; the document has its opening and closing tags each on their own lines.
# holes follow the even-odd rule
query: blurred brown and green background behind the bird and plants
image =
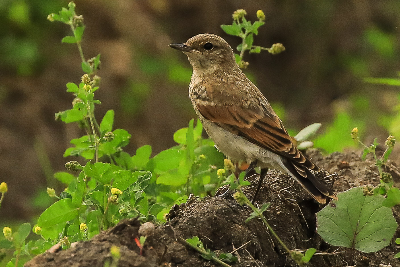
<svg viewBox="0 0 400 267">
<path fill-rule="evenodd" d="M 291 133 L 322 123 L 316 147 L 326 153 L 354 150 L 350 131 L 362 140 L 383 143 L 400 129 L 399 88 L 371 84 L 367 77 L 398 79 L 400 71 L 400 2 L 384 1 L 75 1 L 86 25 L 85 56 L 100 53 L 102 77 L 96 98 L 101 118 L 114 109 L 114 127 L 132 139 L 126 151 L 145 144 L 153 155 L 175 145 L 172 135 L 196 117 L 188 98 L 192 70 L 182 53 L 170 49 L 204 32 L 225 38 L 232 12 L 243 8 L 248 20 L 256 11 L 266 25 L 254 44 L 281 42 L 286 51 L 246 55 L 246 74 L 264 93 Z M 75 124 L 54 120 L 71 108 L 67 82 L 82 76 L 75 45 L 62 44 L 68 26 L 46 18 L 68 1 L 0 1 L 0 182 L 9 192 L 0 210 L 0 226 L 29 221 L 48 206 L 46 187 L 60 187 L 54 171 L 74 158 L 63 158 L 72 138 L 82 136 Z M 397 107 L 398 108 L 398 107 Z M 397 127 L 397 128 L 396 128 Z M 391 156 L 400 162 L 399 150 Z M 44 195 L 44 198 L 40 198 Z"/>
</svg>

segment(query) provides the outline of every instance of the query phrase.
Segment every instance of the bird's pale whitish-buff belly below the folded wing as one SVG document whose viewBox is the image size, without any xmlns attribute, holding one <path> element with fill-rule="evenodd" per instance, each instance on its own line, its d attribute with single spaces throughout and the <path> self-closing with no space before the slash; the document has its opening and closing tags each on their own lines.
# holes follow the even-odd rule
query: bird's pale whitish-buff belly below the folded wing
<svg viewBox="0 0 400 267">
<path fill-rule="evenodd" d="M 248 140 L 232 134 L 215 123 L 201 118 L 203 127 L 208 136 L 214 141 L 216 148 L 232 161 L 243 160 L 250 163 L 258 160 L 258 166 L 262 168 L 274 168 L 284 171 L 280 166 L 280 156 L 272 153 Z"/>
</svg>

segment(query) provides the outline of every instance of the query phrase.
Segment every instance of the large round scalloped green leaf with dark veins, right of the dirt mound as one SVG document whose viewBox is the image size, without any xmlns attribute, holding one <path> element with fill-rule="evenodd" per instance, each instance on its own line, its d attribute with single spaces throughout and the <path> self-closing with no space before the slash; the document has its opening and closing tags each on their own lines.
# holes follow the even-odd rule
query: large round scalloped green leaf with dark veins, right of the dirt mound
<svg viewBox="0 0 400 267">
<path fill-rule="evenodd" d="M 338 194 L 317 216 L 317 232 L 330 245 L 370 253 L 389 245 L 398 225 L 384 197 L 364 196 L 363 187 Z"/>
</svg>

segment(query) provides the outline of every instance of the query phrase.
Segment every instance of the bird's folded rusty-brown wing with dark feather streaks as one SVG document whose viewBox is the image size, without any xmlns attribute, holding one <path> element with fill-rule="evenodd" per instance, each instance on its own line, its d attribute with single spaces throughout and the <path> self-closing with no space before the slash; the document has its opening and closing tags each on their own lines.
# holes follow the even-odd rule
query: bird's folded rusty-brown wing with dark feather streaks
<svg viewBox="0 0 400 267">
<path fill-rule="evenodd" d="M 282 121 L 272 108 L 202 105 L 201 103 L 196 105 L 205 119 L 217 123 L 220 127 L 242 136 L 266 150 L 284 156 L 295 164 L 298 163 L 300 166 L 319 171 L 318 166 L 304 157 L 293 144 Z"/>
</svg>

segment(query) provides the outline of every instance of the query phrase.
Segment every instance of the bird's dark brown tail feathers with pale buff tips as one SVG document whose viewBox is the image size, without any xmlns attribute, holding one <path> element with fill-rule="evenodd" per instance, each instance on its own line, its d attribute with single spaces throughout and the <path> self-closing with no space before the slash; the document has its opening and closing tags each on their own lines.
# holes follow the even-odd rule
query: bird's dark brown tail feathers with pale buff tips
<svg viewBox="0 0 400 267">
<path fill-rule="evenodd" d="M 301 166 L 290 160 L 282 160 L 288 174 L 296 180 L 307 192 L 309 192 L 315 200 L 322 204 L 326 204 L 330 198 L 338 199 L 332 189 L 328 188 L 324 182 L 316 178 L 316 176 L 305 166 Z"/>
</svg>

